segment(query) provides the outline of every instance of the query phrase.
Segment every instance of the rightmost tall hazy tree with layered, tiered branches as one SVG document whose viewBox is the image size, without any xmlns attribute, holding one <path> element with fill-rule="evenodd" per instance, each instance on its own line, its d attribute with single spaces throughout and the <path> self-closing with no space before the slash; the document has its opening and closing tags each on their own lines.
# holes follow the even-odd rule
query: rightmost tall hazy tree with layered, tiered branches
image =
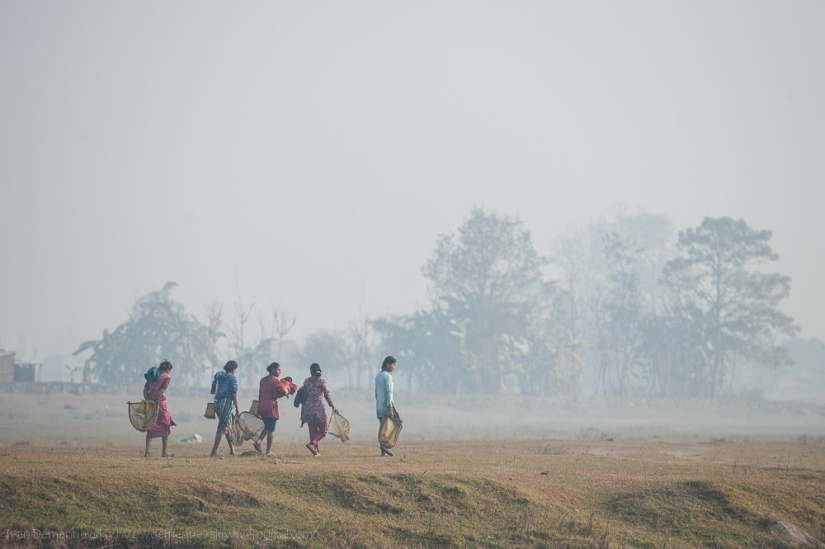
<svg viewBox="0 0 825 549">
<path fill-rule="evenodd" d="M 702 371 L 689 377 L 701 381 L 703 396 L 720 393 L 737 357 L 766 366 L 790 362 L 777 336 L 798 328 L 778 308 L 790 279 L 763 268 L 778 259 L 770 238 L 770 231 L 755 231 L 742 219 L 705 218 L 679 233 L 680 256 L 664 268 L 668 314 L 676 317 L 668 323 L 682 326 L 698 351 L 690 355 L 702 357 Z"/>
</svg>

